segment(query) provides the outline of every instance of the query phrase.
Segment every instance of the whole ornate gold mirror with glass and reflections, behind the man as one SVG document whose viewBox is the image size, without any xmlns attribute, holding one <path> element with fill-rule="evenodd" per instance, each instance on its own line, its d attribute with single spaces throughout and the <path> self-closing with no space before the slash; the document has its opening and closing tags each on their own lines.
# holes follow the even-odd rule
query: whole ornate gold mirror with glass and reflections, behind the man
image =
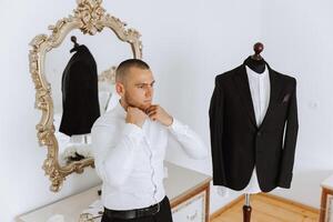
<svg viewBox="0 0 333 222">
<path fill-rule="evenodd" d="M 36 108 L 42 111 L 37 137 L 48 149 L 42 168 L 53 192 L 70 173 L 93 167 L 90 129 L 112 109 L 117 64 L 142 57 L 140 33 L 107 13 L 102 0 L 77 3 L 73 14 L 49 27 L 50 36 L 33 38 L 29 52 Z"/>
</svg>

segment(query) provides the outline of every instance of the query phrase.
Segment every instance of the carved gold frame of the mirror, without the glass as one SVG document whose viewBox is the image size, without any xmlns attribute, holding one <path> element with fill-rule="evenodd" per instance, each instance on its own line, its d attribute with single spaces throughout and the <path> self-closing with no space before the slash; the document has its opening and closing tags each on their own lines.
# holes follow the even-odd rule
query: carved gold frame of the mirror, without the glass
<svg viewBox="0 0 333 222">
<path fill-rule="evenodd" d="M 34 107 L 42 111 L 41 119 L 36 125 L 37 137 L 39 145 L 48 149 L 42 169 L 50 178 L 50 190 L 53 192 L 61 189 L 67 175 L 73 172 L 82 173 L 85 167 L 94 168 L 94 163 L 93 158 L 71 162 L 64 167 L 59 163 L 59 147 L 53 125 L 51 84 L 44 73 L 47 52 L 59 47 L 68 33 L 74 29 L 81 30 L 83 34 L 94 36 L 104 28 L 109 28 L 117 34 L 118 39 L 130 43 L 134 58 L 142 58 L 141 34 L 134 29 L 127 28 L 127 24 L 120 19 L 105 13 L 101 6 L 102 0 L 77 0 L 77 3 L 73 14 L 60 19 L 56 26 L 49 27 L 49 30 L 52 31 L 50 36 L 38 34 L 34 37 L 30 42 L 32 49 L 29 51 L 29 68 L 36 89 Z"/>
</svg>

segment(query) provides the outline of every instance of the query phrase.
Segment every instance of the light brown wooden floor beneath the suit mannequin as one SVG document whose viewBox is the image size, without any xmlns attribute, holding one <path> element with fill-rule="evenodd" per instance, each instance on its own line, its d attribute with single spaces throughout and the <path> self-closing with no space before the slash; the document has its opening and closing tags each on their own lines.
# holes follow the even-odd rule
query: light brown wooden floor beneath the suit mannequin
<svg viewBox="0 0 333 222">
<path fill-rule="evenodd" d="M 243 222 L 244 198 L 214 213 L 211 222 Z M 268 195 L 251 195 L 251 222 L 317 222 L 319 210 Z"/>
</svg>

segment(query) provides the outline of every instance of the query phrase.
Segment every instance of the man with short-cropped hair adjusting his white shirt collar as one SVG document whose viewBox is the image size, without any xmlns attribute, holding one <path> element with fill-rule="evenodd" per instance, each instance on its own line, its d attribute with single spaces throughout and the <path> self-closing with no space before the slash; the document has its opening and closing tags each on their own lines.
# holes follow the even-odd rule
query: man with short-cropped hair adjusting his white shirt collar
<svg viewBox="0 0 333 222">
<path fill-rule="evenodd" d="M 115 74 L 119 104 L 93 124 L 94 164 L 103 181 L 102 222 L 172 222 L 163 188 L 169 134 L 191 158 L 208 155 L 204 143 L 189 127 L 152 104 L 154 82 L 145 62 L 121 62 Z"/>
</svg>

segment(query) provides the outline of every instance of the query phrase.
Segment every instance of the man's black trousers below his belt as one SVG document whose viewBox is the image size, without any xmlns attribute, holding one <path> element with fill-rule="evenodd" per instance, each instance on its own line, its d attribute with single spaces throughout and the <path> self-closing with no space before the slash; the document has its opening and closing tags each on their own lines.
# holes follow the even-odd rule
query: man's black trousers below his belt
<svg viewBox="0 0 333 222">
<path fill-rule="evenodd" d="M 151 216 L 144 216 L 139 219 L 130 219 L 130 220 L 122 220 L 122 219 L 110 219 L 104 213 L 102 216 L 101 222 L 172 222 L 172 215 L 171 215 L 171 206 L 169 198 L 165 195 L 165 198 L 161 201 L 160 211 Z"/>
</svg>

